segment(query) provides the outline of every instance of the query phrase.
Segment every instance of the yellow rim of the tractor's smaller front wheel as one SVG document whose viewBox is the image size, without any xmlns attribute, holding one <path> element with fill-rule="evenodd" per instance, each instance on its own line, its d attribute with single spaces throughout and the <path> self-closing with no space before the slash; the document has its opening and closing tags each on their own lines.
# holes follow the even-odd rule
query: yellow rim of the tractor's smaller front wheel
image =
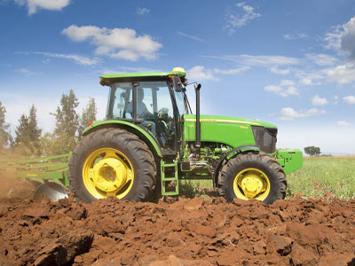
<svg viewBox="0 0 355 266">
<path fill-rule="evenodd" d="M 238 199 L 265 200 L 270 193 L 270 181 L 263 171 L 246 168 L 235 176 L 233 190 Z"/>
</svg>

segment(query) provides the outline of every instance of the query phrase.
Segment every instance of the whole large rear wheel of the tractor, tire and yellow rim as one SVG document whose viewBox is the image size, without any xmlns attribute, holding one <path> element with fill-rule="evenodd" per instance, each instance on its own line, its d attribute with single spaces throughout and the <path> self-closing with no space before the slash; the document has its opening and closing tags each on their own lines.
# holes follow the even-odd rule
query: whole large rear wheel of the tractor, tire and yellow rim
<svg viewBox="0 0 355 266">
<path fill-rule="evenodd" d="M 115 197 L 146 200 L 156 166 L 146 144 L 124 129 L 99 129 L 75 147 L 68 178 L 75 197 L 85 202 Z"/>
</svg>

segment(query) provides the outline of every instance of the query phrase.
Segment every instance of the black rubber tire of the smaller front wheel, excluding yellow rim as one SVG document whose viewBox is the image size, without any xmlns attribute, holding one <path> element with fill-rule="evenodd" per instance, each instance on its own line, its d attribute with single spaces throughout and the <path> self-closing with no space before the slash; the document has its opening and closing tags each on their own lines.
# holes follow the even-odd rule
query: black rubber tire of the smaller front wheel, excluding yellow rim
<svg viewBox="0 0 355 266">
<path fill-rule="evenodd" d="M 236 194 L 234 191 L 234 182 L 236 182 L 237 176 L 242 176 L 242 173 L 246 171 L 248 175 L 249 168 L 256 169 L 256 172 L 263 172 L 268 179 L 270 184 L 269 191 L 264 192 L 264 197 L 267 197 L 263 200 L 264 204 L 272 204 L 275 200 L 282 200 L 286 196 L 286 175 L 283 171 L 283 168 L 280 164 L 274 160 L 270 155 L 266 153 L 240 153 L 237 156 L 229 160 L 225 166 L 222 168 L 222 171 L 218 178 L 218 192 L 219 195 L 224 196 L 226 200 L 232 201 L 235 198 L 240 198 L 247 200 L 247 196 L 241 197 Z M 237 190 L 242 191 L 240 186 L 237 186 Z M 256 198 L 263 195 L 257 194 Z M 248 198 L 250 199 L 250 198 Z"/>
</svg>

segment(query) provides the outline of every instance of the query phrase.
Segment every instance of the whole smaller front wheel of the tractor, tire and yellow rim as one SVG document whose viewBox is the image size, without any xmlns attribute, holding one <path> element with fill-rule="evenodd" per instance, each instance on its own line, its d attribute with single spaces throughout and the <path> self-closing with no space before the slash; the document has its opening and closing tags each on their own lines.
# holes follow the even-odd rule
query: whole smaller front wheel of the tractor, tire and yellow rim
<svg viewBox="0 0 355 266">
<path fill-rule="evenodd" d="M 240 153 L 222 168 L 218 192 L 226 200 L 262 200 L 272 204 L 286 195 L 286 175 L 266 153 Z"/>
</svg>

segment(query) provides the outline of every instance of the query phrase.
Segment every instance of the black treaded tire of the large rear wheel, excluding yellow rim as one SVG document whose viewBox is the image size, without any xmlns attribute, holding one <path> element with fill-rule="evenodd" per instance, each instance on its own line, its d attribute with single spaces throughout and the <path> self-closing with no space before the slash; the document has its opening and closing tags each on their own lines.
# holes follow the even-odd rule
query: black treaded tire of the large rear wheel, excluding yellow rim
<svg viewBox="0 0 355 266">
<path fill-rule="evenodd" d="M 70 189 L 75 194 L 75 197 L 85 202 L 106 198 L 105 194 L 98 197 L 95 190 L 98 192 L 100 191 L 97 188 L 91 188 L 91 191 L 88 190 L 83 179 L 83 167 L 84 165 L 86 167 L 86 165 L 89 164 L 87 161 L 93 156 L 91 154 L 99 153 L 101 150 L 105 149 L 114 149 L 114 151 L 118 151 L 120 155 L 118 153 L 115 154 L 120 157 L 124 156 L 125 158 L 123 158 L 123 160 L 128 161 L 126 165 L 132 168 L 134 172 L 134 178 L 130 181 L 132 184 L 128 185 L 129 189 L 126 188 L 128 193 L 124 194 L 121 200 L 146 200 L 149 192 L 152 191 L 156 183 L 156 165 L 154 156 L 147 145 L 140 140 L 137 135 L 124 129 L 112 128 L 99 129 L 88 136 L 83 137 L 82 141 L 76 145 L 69 160 L 68 169 Z M 98 158 L 101 158 L 99 160 L 102 160 L 102 157 Z M 92 163 L 96 164 L 97 160 L 94 160 Z M 109 170 L 106 170 L 106 172 L 108 173 Z M 109 176 L 109 174 L 106 174 L 106 176 L 107 175 Z M 124 187 L 122 190 L 123 189 Z M 118 194 L 116 197 L 120 198 Z"/>
</svg>

